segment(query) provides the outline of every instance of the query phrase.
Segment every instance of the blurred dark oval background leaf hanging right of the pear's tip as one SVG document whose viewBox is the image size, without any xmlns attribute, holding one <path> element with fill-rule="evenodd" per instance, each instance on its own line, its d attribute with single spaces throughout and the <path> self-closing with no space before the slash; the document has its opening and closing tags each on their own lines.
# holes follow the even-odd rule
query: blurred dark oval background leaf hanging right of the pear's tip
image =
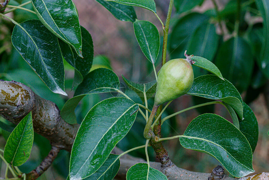
<svg viewBox="0 0 269 180">
<path fill-rule="evenodd" d="M 223 77 L 235 85 L 239 92 L 247 89 L 251 81 L 254 59 L 245 40 L 238 37 L 224 42 L 217 53 L 215 64 Z"/>
</svg>

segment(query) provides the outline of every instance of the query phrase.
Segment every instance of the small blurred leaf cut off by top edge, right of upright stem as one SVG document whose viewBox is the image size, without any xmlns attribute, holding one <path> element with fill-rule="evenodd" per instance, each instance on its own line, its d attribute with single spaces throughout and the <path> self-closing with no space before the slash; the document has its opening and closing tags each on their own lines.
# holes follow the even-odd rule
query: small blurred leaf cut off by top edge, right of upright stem
<svg viewBox="0 0 269 180">
<path fill-rule="evenodd" d="M 189 1 L 189 0 L 175 0 L 175 8 L 178 13 L 184 13 L 186 11 L 191 10 L 195 6 L 200 6 L 204 0 L 195 0 L 195 1 Z"/>
</svg>

